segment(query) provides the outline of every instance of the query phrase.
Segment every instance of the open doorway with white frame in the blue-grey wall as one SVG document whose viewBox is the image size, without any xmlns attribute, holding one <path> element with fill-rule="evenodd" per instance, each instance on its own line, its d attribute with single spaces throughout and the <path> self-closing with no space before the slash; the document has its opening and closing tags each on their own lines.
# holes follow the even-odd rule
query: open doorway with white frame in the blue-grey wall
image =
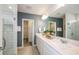
<svg viewBox="0 0 79 59">
<path fill-rule="evenodd" d="M 34 20 L 32 19 L 22 20 L 22 47 L 27 46 L 27 43 L 34 46 Z"/>
</svg>

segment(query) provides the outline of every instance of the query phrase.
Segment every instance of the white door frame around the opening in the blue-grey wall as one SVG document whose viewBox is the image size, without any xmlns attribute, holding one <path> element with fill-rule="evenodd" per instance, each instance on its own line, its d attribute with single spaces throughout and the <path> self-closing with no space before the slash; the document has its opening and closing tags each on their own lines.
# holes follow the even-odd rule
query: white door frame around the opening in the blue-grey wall
<svg viewBox="0 0 79 59">
<path fill-rule="evenodd" d="M 25 19 L 25 18 L 23 18 L 22 19 L 22 47 L 24 47 L 24 21 L 32 21 L 33 22 L 33 28 L 32 28 L 32 30 L 33 30 L 33 36 L 32 36 L 32 46 L 34 46 L 34 20 L 33 19 Z M 28 38 L 29 38 L 29 36 L 28 36 Z"/>
</svg>

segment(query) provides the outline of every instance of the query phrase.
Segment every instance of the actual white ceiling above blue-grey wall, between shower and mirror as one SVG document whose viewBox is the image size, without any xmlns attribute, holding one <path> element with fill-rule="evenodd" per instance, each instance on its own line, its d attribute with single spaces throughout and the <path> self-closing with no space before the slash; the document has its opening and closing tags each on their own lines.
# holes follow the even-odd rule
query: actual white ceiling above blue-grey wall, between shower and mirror
<svg viewBox="0 0 79 59">
<path fill-rule="evenodd" d="M 56 4 L 20 4 L 19 12 L 43 15 L 51 13 L 56 8 Z M 51 12 L 50 12 L 51 11 Z"/>
</svg>

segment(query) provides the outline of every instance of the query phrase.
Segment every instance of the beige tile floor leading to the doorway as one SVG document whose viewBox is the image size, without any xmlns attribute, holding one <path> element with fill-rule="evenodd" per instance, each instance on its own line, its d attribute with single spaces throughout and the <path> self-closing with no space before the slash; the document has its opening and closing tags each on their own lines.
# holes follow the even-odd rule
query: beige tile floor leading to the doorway
<svg viewBox="0 0 79 59">
<path fill-rule="evenodd" d="M 17 55 L 39 55 L 39 53 L 36 47 L 32 47 L 30 43 L 27 43 L 23 48 L 17 49 Z"/>
</svg>

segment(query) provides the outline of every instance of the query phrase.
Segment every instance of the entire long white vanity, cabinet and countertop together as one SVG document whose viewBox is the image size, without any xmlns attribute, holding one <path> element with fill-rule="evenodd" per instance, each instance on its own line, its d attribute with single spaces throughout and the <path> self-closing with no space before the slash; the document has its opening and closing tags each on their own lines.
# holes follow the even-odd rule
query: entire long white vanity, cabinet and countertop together
<svg viewBox="0 0 79 59">
<path fill-rule="evenodd" d="M 79 41 L 71 39 L 37 33 L 36 45 L 40 55 L 79 55 Z"/>
</svg>

